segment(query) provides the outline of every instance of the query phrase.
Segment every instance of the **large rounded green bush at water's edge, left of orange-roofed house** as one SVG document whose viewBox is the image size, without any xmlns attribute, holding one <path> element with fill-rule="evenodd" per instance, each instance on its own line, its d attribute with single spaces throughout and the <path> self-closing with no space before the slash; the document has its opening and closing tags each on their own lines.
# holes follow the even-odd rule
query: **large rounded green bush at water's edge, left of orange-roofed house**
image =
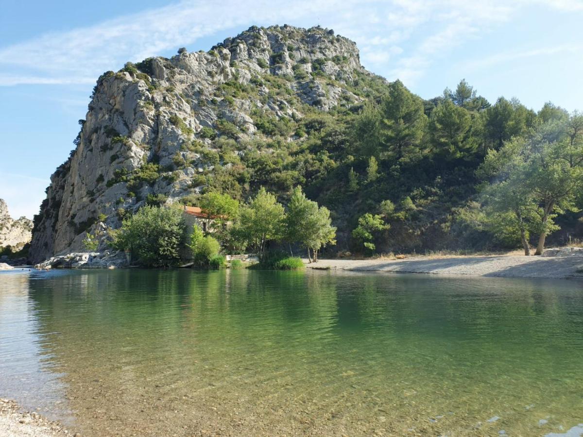
<svg viewBox="0 0 583 437">
<path fill-rule="evenodd" d="M 180 259 L 185 225 L 180 209 L 144 206 L 113 234 L 113 246 L 131 252 L 146 267 L 168 267 Z"/>
</svg>

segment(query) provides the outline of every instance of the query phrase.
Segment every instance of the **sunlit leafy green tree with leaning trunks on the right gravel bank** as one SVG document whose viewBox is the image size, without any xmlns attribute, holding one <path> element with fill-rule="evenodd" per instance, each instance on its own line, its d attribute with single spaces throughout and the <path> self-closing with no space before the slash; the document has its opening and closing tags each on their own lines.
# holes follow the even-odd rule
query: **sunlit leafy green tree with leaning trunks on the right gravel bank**
<svg viewBox="0 0 583 437">
<path fill-rule="evenodd" d="M 539 234 L 536 255 L 540 255 L 546 235 L 559 229 L 554 222 L 557 214 L 578 210 L 575 199 L 583 186 L 583 168 L 570 157 L 583 150 L 566 135 L 566 125 L 552 120 L 528 136 L 505 142 L 500 150 L 489 151 L 478 171 L 492 182 L 483 186 L 491 220 L 496 227 L 519 234 L 527 255 L 531 232 Z"/>
</svg>

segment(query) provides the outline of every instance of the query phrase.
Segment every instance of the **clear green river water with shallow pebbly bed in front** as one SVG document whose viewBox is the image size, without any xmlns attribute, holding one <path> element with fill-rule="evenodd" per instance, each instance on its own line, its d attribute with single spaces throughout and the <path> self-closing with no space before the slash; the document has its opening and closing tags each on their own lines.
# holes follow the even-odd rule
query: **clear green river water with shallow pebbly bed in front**
<svg viewBox="0 0 583 437">
<path fill-rule="evenodd" d="M 96 436 L 560 435 L 583 423 L 583 287 L 6 272 L 0 397 Z"/>
</svg>

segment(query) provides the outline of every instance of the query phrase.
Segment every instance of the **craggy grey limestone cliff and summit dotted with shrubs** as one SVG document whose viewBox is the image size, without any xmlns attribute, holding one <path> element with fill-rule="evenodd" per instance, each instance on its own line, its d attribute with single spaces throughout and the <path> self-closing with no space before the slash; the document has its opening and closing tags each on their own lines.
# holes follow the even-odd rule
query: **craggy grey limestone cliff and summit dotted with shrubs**
<svg viewBox="0 0 583 437">
<path fill-rule="evenodd" d="M 251 27 L 209 52 L 181 49 L 104 73 L 77 147 L 35 217 L 32 260 L 82 249 L 86 232 L 104 235 L 145 202 L 201 192 L 213 169 L 236 165 L 217 158 L 216 136 L 242 145 L 233 156 L 244 156 L 245 145 L 269 136 L 266 121 L 359 105 L 357 83 L 373 76 L 347 38 L 287 25 Z M 287 141 L 301 138 L 291 132 Z"/>
</svg>

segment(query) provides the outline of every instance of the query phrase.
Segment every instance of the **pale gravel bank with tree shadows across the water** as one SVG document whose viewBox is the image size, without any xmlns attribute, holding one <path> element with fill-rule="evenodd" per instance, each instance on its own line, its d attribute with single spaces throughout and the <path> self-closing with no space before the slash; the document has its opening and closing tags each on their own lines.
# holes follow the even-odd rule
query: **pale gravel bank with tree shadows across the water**
<svg viewBox="0 0 583 437">
<path fill-rule="evenodd" d="M 583 255 L 571 256 L 452 256 L 447 258 L 321 259 L 308 268 L 368 270 L 374 272 L 500 276 L 546 279 L 583 279 Z"/>
</svg>

